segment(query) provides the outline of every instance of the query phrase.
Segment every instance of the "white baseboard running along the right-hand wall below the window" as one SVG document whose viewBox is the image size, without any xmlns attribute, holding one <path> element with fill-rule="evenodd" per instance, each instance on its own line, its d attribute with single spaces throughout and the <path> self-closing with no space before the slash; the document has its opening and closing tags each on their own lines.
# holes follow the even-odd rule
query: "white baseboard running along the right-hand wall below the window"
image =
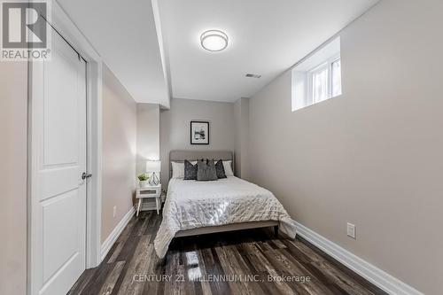
<svg viewBox="0 0 443 295">
<path fill-rule="evenodd" d="M 327 238 L 320 236 L 315 231 L 308 229 L 303 224 L 294 221 L 297 227 L 297 235 L 305 238 L 308 242 L 315 245 L 323 252 L 344 264 L 347 268 L 352 269 L 355 273 L 367 279 L 370 283 L 374 283 L 378 288 L 388 292 L 389 294 L 398 295 L 424 295 L 417 291 L 407 283 L 401 282 L 399 279 L 387 274 L 370 264 L 368 261 L 362 260 L 352 252 L 332 243 Z"/>
</svg>

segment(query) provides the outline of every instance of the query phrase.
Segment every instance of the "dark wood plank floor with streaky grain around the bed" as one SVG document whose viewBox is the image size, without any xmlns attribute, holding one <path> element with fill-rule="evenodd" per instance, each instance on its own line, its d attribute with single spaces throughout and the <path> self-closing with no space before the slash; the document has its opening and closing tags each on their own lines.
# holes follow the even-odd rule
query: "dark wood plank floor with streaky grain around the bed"
<svg viewBox="0 0 443 295">
<path fill-rule="evenodd" d="M 272 228 L 175 238 L 159 260 L 160 221 L 153 211 L 134 217 L 68 294 L 385 294 L 301 237 L 275 238 Z"/>
</svg>

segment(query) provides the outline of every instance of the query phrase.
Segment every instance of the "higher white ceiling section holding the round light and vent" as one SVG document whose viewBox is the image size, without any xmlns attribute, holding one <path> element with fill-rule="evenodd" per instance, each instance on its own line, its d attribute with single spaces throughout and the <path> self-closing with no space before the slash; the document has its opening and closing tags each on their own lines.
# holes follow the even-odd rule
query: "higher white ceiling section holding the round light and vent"
<svg viewBox="0 0 443 295">
<path fill-rule="evenodd" d="M 235 101 L 252 97 L 378 0 L 163 0 L 173 97 Z M 203 50 L 199 35 L 229 35 L 221 52 Z M 260 79 L 245 74 L 261 74 Z"/>
</svg>

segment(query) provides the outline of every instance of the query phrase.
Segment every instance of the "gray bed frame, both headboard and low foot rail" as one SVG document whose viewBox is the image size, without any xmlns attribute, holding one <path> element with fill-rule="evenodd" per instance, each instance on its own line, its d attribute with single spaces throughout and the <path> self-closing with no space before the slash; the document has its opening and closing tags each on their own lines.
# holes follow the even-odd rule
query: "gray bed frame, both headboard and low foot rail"
<svg viewBox="0 0 443 295">
<path fill-rule="evenodd" d="M 188 160 L 198 159 L 222 159 L 232 161 L 232 171 L 234 171 L 234 155 L 232 151 L 170 151 L 169 152 L 169 179 L 172 177 L 172 163 L 184 162 Z M 205 234 L 212 234 L 224 231 L 233 231 L 241 229 L 259 229 L 274 227 L 274 233 L 278 237 L 278 221 L 251 221 L 233 223 L 221 226 L 203 227 L 198 229 L 180 230 L 175 234 L 175 237 L 190 237 Z"/>
</svg>

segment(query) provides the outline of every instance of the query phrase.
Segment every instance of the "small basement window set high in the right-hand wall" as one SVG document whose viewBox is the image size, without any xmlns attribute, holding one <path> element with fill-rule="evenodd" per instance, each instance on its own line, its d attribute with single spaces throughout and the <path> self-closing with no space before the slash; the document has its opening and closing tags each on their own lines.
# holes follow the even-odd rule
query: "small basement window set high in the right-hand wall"
<svg viewBox="0 0 443 295">
<path fill-rule="evenodd" d="M 292 69 L 292 112 L 341 94 L 338 37 Z"/>
</svg>

